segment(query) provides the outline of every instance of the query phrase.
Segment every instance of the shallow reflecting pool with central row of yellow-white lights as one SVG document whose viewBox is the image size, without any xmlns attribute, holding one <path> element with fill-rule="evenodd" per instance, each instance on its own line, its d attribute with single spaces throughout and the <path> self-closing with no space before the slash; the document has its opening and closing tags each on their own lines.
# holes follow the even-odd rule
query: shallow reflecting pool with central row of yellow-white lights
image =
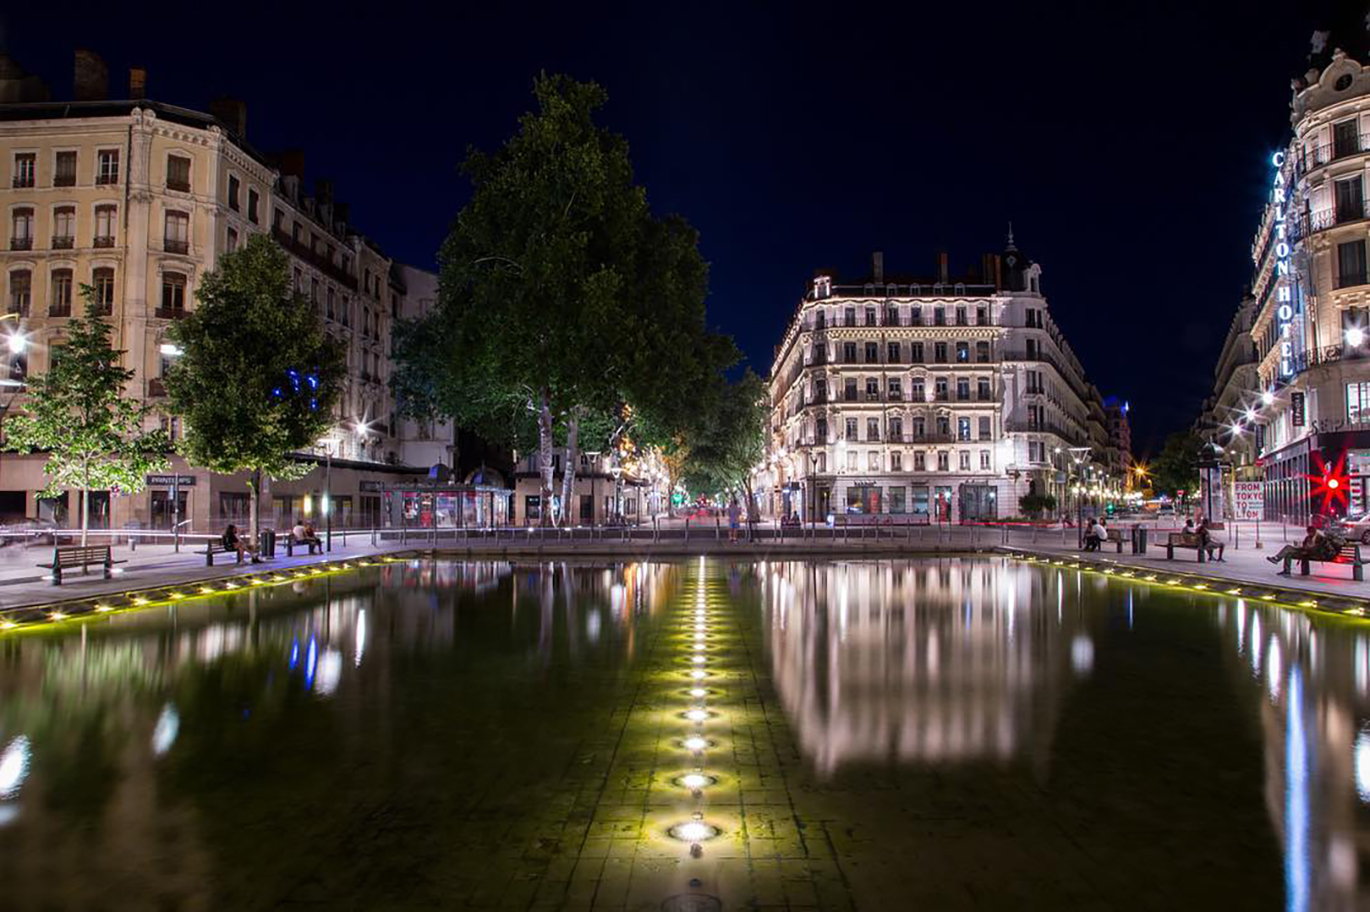
<svg viewBox="0 0 1370 912">
<path fill-rule="evenodd" d="M 1367 690 L 1007 559 L 397 563 L 0 637 L 0 909 L 1365 908 Z"/>
</svg>

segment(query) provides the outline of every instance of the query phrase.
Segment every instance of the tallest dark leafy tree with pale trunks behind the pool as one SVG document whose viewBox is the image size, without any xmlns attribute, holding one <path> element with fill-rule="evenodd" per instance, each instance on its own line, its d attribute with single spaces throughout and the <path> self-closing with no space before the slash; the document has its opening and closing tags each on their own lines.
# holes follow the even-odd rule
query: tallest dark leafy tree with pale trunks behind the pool
<svg viewBox="0 0 1370 912">
<path fill-rule="evenodd" d="M 408 414 L 536 440 L 545 523 L 553 444 L 566 503 L 582 426 L 595 446 L 669 440 L 736 348 L 706 327 L 696 233 L 651 215 L 627 144 L 595 123 L 604 92 L 543 75 L 534 96 L 504 147 L 463 166 L 471 200 L 440 252 L 437 308 L 397 327 L 395 389 Z"/>
</svg>

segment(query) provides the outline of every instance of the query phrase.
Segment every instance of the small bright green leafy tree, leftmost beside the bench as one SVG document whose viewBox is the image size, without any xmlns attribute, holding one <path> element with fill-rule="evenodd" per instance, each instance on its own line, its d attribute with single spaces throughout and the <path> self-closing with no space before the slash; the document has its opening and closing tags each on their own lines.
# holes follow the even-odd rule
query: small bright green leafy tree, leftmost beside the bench
<svg viewBox="0 0 1370 912">
<path fill-rule="evenodd" d="M 45 451 L 48 483 L 41 496 L 81 492 L 81 544 L 90 529 L 90 492 L 136 494 L 148 472 L 166 468 L 170 441 L 145 430 L 149 408 L 126 393 L 134 372 L 121 364 L 111 329 L 95 309 L 95 292 L 81 289 L 86 316 L 67 323 L 66 340 L 51 349 L 52 364 L 29 379 L 19 415 L 5 422 L 4 448 Z"/>
</svg>

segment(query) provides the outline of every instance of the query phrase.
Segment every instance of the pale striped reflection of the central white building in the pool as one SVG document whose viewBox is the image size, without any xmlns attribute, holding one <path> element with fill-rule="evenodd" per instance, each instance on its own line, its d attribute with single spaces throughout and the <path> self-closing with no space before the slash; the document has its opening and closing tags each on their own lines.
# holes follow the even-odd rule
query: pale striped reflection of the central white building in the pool
<svg viewBox="0 0 1370 912">
<path fill-rule="evenodd" d="M 1078 592 L 999 561 L 773 564 L 775 686 L 819 771 L 856 761 L 1044 761 L 1093 646 Z"/>
</svg>

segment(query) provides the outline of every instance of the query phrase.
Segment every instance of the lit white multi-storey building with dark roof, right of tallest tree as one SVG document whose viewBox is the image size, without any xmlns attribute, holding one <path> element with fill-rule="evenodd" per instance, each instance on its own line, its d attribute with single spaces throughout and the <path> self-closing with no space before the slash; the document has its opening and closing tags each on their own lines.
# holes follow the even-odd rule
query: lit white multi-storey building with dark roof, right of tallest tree
<svg viewBox="0 0 1370 912">
<path fill-rule="evenodd" d="M 774 515 L 958 522 L 1122 493 L 1128 459 L 1052 319 L 1041 267 L 1010 236 L 964 278 L 818 275 L 770 377 Z M 1117 426 L 1117 423 L 1115 423 Z"/>
</svg>

